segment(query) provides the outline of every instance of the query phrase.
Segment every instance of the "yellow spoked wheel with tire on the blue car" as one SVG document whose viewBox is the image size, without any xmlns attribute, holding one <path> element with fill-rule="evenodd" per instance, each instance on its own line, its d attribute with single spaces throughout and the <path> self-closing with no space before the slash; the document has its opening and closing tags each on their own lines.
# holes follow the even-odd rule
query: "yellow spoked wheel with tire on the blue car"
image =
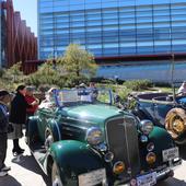
<svg viewBox="0 0 186 186">
<path fill-rule="evenodd" d="M 165 117 L 165 128 L 176 141 L 186 132 L 186 112 L 183 108 L 172 108 Z"/>
</svg>

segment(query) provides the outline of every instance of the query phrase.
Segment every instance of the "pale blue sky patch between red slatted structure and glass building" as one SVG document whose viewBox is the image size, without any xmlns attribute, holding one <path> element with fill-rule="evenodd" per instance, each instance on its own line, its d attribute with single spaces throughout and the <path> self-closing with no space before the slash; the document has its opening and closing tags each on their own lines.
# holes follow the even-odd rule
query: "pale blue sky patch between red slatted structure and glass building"
<svg viewBox="0 0 186 186">
<path fill-rule="evenodd" d="M 37 0 L 13 0 L 14 11 L 21 12 L 22 20 L 37 35 Z"/>
</svg>

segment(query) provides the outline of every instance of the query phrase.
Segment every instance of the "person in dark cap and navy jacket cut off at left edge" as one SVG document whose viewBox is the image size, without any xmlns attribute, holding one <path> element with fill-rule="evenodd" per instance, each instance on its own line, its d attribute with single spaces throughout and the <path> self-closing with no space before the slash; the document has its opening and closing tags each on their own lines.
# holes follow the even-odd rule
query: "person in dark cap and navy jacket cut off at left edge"
<svg viewBox="0 0 186 186">
<path fill-rule="evenodd" d="M 9 126 L 8 104 L 10 103 L 10 94 L 5 90 L 0 90 L 0 177 L 5 176 L 10 166 L 5 166 L 7 140 Z"/>
</svg>

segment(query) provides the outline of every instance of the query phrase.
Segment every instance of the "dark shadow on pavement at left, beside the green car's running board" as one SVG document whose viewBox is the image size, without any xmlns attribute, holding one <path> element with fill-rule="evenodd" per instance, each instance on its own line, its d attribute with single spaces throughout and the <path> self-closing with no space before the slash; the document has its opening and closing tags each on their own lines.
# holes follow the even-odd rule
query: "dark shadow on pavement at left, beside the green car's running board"
<svg viewBox="0 0 186 186">
<path fill-rule="evenodd" d="M 32 171 L 36 174 L 39 174 L 42 175 L 44 182 L 46 183 L 46 186 L 49 186 L 48 185 L 48 178 L 47 176 L 44 174 L 44 172 L 42 171 L 42 168 L 39 167 L 39 165 L 37 164 L 36 160 L 34 159 L 34 156 L 32 155 L 21 155 L 21 156 L 16 156 L 16 158 L 13 158 L 12 159 L 12 163 L 16 163 L 19 164 L 20 166 L 28 170 L 28 171 Z M 0 184 L 1 186 L 1 184 Z M 12 185 L 14 186 L 14 185 Z M 16 186 L 16 185 L 15 185 Z"/>
</svg>

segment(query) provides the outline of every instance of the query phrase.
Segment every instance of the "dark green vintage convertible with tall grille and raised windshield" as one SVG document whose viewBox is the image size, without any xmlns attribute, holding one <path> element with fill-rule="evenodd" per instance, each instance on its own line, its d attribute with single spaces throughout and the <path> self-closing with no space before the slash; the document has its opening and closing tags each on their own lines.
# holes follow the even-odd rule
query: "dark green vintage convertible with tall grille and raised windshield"
<svg viewBox="0 0 186 186">
<path fill-rule="evenodd" d="M 181 164 L 171 136 L 114 106 L 109 90 L 56 90 L 27 144 L 53 186 L 155 185 Z"/>
</svg>

